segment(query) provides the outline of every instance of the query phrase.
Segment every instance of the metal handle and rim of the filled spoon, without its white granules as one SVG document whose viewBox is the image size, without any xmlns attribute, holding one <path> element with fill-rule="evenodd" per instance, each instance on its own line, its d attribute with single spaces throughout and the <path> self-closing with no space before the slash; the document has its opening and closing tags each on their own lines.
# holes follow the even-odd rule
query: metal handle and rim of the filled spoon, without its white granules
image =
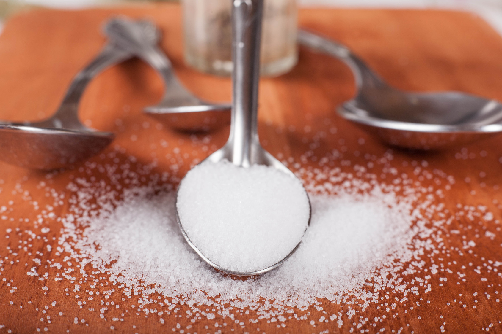
<svg viewBox="0 0 502 334">
<path fill-rule="evenodd" d="M 232 2 L 234 71 L 230 136 L 225 146 L 207 157 L 207 160 L 218 163 L 226 159 L 243 168 L 253 164 L 272 166 L 296 178 L 293 172 L 262 148 L 258 138 L 258 82 L 263 2 L 264 0 Z M 180 188 L 182 187 L 183 180 L 180 183 Z M 308 200 L 307 196 L 306 198 Z M 296 245 L 284 259 L 268 268 L 253 272 L 235 272 L 212 262 L 197 249 L 183 229 L 183 222 L 178 212 L 177 219 L 183 236 L 204 261 L 218 270 L 234 275 L 249 276 L 272 270 L 291 256 L 299 245 Z"/>
</svg>

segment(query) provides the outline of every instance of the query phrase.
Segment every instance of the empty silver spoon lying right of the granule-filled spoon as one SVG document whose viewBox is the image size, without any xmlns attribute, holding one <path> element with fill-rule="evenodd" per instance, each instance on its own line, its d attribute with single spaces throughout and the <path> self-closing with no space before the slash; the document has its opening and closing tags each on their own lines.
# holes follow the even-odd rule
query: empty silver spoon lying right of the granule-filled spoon
<svg viewBox="0 0 502 334">
<path fill-rule="evenodd" d="M 389 86 L 347 47 L 300 30 L 298 42 L 347 64 L 357 94 L 338 112 L 385 142 L 411 149 L 440 149 L 502 132 L 502 105 L 460 92 L 409 93 Z"/>
</svg>

